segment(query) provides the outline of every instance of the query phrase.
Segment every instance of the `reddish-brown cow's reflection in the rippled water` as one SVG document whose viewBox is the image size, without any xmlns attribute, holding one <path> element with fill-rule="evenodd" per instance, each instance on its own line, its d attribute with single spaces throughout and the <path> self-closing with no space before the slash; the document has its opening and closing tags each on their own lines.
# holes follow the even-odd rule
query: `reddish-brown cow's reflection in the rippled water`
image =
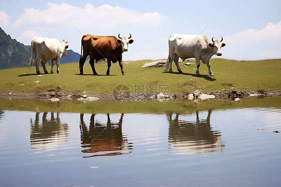
<svg viewBox="0 0 281 187">
<path fill-rule="evenodd" d="M 127 138 L 122 134 L 122 121 L 124 116 L 123 113 L 121 114 L 118 122 L 111 122 L 109 114 L 107 114 L 107 123 L 98 122 L 94 119 L 95 114 L 91 114 L 89 127 L 86 126 L 83 120 L 83 116 L 84 114 L 81 113 L 81 147 L 84 147 L 86 149 L 82 150 L 82 152 L 110 151 L 84 157 L 109 156 L 130 153 L 130 151 L 127 150 L 131 149 L 132 145 L 128 143 Z"/>
</svg>

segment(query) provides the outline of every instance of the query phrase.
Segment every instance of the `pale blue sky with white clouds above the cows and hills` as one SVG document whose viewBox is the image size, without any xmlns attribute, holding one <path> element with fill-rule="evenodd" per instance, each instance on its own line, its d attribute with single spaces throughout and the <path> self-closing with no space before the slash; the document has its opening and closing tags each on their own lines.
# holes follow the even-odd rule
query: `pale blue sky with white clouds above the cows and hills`
<svg viewBox="0 0 281 187">
<path fill-rule="evenodd" d="M 280 0 L 1 0 L 0 27 L 26 45 L 35 35 L 55 37 L 79 53 L 83 34 L 131 33 L 123 60 L 166 58 L 169 35 L 202 33 L 223 37 L 221 58 L 258 60 L 281 58 L 280 7 Z"/>
</svg>

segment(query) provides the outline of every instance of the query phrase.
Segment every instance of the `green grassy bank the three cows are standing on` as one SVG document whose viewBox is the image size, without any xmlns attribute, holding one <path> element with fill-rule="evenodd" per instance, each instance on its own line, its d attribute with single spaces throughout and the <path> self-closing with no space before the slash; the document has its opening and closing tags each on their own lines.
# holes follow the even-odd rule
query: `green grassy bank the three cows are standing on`
<svg viewBox="0 0 281 187">
<path fill-rule="evenodd" d="M 174 62 L 173 73 L 163 72 L 163 67 L 140 67 L 145 62 L 139 60 L 123 63 L 126 75 L 121 74 L 118 63 L 112 63 L 110 76 L 106 76 L 106 62 L 95 63 L 99 75 L 93 75 L 89 63 L 84 64 L 84 75 L 79 75 L 78 62 L 59 66 L 60 73 L 35 74 L 35 67 L 9 68 L 0 70 L 0 92 L 47 92 L 61 93 L 109 94 L 118 84 L 127 85 L 134 92 L 135 84 L 168 84 L 169 94 L 190 93 L 201 88 L 203 92 L 229 92 L 231 89 L 242 91 L 280 91 L 281 59 L 258 61 L 237 61 L 222 58 L 211 59 L 211 69 L 215 76 L 208 75 L 205 64 L 200 65 L 195 74 L 195 62 L 180 68 L 184 72 L 178 74 Z M 50 66 L 47 66 L 50 71 Z M 40 71 L 43 72 L 42 67 Z M 54 72 L 56 66 L 54 66 Z M 39 83 L 34 83 L 39 80 Z M 231 88 L 233 87 L 233 88 Z"/>
</svg>

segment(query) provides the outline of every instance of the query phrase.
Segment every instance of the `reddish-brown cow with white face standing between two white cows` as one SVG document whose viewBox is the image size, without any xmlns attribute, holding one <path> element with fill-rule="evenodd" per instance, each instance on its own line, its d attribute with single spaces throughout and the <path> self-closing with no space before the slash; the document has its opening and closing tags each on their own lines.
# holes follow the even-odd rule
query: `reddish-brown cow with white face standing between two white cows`
<svg viewBox="0 0 281 187">
<path fill-rule="evenodd" d="M 132 43 L 133 40 L 129 39 L 130 36 L 122 36 L 118 34 L 120 39 L 115 36 L 100 36 L 100 35 L 83 35 L 81 39 L 81 56 L 79 60 L 80 74 L 83 74 L 83 65 L 85 63 L 86 57 L 90 56 L 90 65 L 93 74 L 97 74 L 94 68 L 94 60 L 97 62 L 100 59 L 107 59 L 107 71 L 106 75 L 109 75 L 109 68 L 111 66 L 111 61 L 113 63 L 119 62 L 121 68 L 121 73 L 125 74 L 123 70 L 122 63 L 122 53 L 128 50 L 128 44 Z M 83 49 L 83 55 L 82 55 Z"/>
</svg>

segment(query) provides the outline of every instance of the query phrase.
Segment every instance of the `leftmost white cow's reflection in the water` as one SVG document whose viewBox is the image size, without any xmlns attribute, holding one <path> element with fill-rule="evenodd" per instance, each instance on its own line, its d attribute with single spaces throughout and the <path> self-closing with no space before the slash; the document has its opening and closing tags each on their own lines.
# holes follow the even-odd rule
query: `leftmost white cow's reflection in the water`
<svg viewBox="0 0 281 187">
<path fill-rule="evenodd" d="M 44 149 L 57 147 L 57 143 L 67 141 L 68 124 L 61 123 L 59 113 L 50 113 L 48 118 L 47 112 L 42 114 L 36 112 L 34 122 L 30 119 L 30 143 L 32 148 Z"/>
</svg>

